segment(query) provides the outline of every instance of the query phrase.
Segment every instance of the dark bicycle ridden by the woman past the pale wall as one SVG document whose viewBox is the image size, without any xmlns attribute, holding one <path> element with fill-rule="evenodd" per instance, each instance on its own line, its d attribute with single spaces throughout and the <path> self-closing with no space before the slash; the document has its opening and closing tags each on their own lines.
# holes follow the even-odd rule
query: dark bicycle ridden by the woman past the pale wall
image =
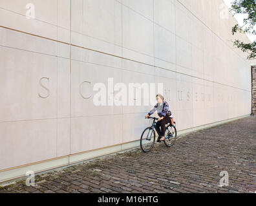
<svg viewBox="0 0 256 206">
<path fill-rule="evenodd" d="M 158 134 L 158 138 L 160 138 L 161 136 L 160 132 L 157 131 L 156 129 L 156 121 L 158 120 L 158 118 L 156 117 L 148 117 L 148 118 L 153 119 L 152 126 L 145 128 L 142 133 L 142 136 L 140 137 L 140 148 L 142 149 L 142 151 L 144 151 L 144 153 L 148 153 L 153 148 L 155 144 L 156 133 Z M 173 122 L 173 123 L 174 125 L 172 126 L 169 123 L 167 124 L 167 126 L 165 126 L 166 131 L 165 131 L 165 137 L 164 137 L 164 144 L 167 147 L 173 146 L 176 141 L 176 137 L 177 137 L 176 122 Z M 146 136 L 144 136 L 144 134 Z M 148 146 L 149 146 L 149 149 L 147 149 Z"/>
</svg>

